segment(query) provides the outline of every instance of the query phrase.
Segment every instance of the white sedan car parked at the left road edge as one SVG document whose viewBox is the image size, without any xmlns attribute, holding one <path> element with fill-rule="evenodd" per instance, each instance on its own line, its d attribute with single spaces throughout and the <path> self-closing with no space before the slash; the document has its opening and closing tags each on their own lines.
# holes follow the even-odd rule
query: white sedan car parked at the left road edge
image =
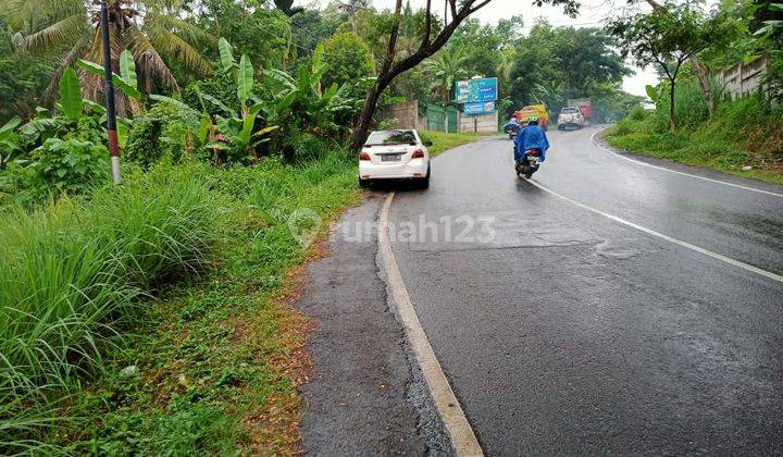
<svg viewBox="0 0 783 457">
<path fill-rule="evenodd" d="M 380 180 L 413 180 L 430 186 L 432 141 L 422 140 L 413 129 L 375 131 L 359 153 L 359 185 L 369 187 Z"/>
</svg>

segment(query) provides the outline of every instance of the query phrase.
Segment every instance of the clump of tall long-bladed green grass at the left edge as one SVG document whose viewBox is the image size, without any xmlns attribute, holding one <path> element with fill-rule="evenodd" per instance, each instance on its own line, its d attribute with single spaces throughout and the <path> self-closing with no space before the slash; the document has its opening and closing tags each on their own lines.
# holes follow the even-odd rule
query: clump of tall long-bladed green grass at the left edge
<svg viewBox="0 0 783 457">
<path fill-rule="evenodd" d="M 225 199 L 185 168 L 0 218 L 0 454 L 67 420 L 63 398 L 101 370 L 139 298 L 203 269 Z"/>
</svg>

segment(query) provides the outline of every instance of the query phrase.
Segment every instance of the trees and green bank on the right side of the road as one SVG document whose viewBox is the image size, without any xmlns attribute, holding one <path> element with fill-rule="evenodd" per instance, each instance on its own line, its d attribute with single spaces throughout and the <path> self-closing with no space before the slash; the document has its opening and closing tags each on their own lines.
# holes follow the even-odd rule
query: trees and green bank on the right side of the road
<svg viewBox="0 0 783 457">
<path fill-rule="evenodd" d="M 655 3 L 610 26 L 624 50 L 659 70 L 654 110 L 634 109 L 610 127 L 612 146 L 783 184 L 783 4 Z M 768 61 L 758 89 L 732 97 L 720 71 Z"/>
</svg>

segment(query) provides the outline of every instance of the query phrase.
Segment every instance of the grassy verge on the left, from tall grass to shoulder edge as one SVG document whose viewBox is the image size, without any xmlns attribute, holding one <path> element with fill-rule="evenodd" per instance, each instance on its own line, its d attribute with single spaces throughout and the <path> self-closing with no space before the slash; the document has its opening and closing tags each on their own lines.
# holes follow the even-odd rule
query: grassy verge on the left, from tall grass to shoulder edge
<svg viewBox="0 0 783 457">
<path fill-rule="evenodd" d="M 8 219 L 7 225 L 18 225 L 18 236 L 3 243 L 2 254 L 29 259 L 29 264 L 5 262 L 3 268 L 15 271 L 13 280 L 30 292 L 20 285 L 11 296 L 3 287 L 0 298 L 36 296 L 42 280 L 34 270 L 41 270 L 51 276 L 45 283 L 51 286 L 39 295 L 72 295 L 30 301 L 16 326 L 42 329 L 27 331 L 26 341 L 38 342 L 52 328 L 41 317 L 62 309 L 50 321 L 72 339 L 52 337 L 62 347 L 41 339 L 40 345 L 58 349 L 53 354 L 59 358 L 52 358 L 52 374 L 38 373 L 32 368 L 35 348 L 17 350 L 27 359 L 15 356 L 13 335 L 4 328 L 3 356 L 15 357 L 16 371 L 2 372 L 0 450 L 295 453 L 296 386 L 307 376 L 301 347 L 309 323 L 286 297 L 294 293 L 291 269 L 311 255 L 300 242 L 318 233 L 320 221 L 358 201 L 356 164 L 346 157 L 328 153 L 297 166 L 270 159 L 229 170 L 163 164 L 127 180 L 112 190 L 114 199 L 103 201 L 96 194 L 89 202 L 64 202 Z M 156 176 L 160 185 L 152 184 Z M 177 206 L 179 200 L 192 205 Z M 201 214 L 194 208 L 209 210 L 203 224 L 188 225 Z M 62 221 L 61 212 L 67 215 Z M 40 236 L 24 244 L 29 226 L 40 226 L 35 232 Z M 57 243 L 48 247 L 48 239 Z M 116 243 L 109 244 L 109 254 L 101 250 L 105 240 Z M 27 254 L 20 256 L 23 248 Z M 125 257 L 127 252 L 134 256 Z M 104 258 L 109 260 L 95 260 Z M 108 270 L 107 262 L 114 261 L 119 267 Z M 89 280 L 86 286 L 70 286 L 83 276 Z M 107 296 L 104 301 L 85 305 L 72 297 L 92 286 L 100 291 L 98 297 Z M 62 306 L 53 307 L 55 302 Z M 82 333 L 66 328 L 71 321 Z M 92 326 L 82 330 L 82 321 Z M 18 373 L 30 387 L 47 388 L 22 395 Z"/>
</svg>

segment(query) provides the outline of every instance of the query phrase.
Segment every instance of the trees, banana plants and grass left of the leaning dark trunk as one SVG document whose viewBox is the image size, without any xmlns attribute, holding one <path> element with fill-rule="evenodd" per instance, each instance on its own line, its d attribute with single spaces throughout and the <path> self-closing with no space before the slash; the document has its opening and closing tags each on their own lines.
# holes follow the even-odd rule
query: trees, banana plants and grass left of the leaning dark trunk
<svg viewBox="0 0 783 457">
<path fill-rule="evenodd" d="M 174 10 L 130 11 L 160 22 L 116 55 L 113 186 L 103 69 L 78 48 L 94 10 L 65 2 L 24 35 L 34 11 L 0 4 L 0 454 L 296 453 L 311 322 L 288 301 L 361 195 L 346 144 L 375 55 L 350 16 L 318 12 L 334 27 L 295 45 L 311 27 L 285 11 L 215 2 L 179 42 L 183 24 L 156 28 Z M 184 61 L 134 53 L 145 34 Z M 433 153 L 478 137 L 431 136 Z"/>
</svg>

